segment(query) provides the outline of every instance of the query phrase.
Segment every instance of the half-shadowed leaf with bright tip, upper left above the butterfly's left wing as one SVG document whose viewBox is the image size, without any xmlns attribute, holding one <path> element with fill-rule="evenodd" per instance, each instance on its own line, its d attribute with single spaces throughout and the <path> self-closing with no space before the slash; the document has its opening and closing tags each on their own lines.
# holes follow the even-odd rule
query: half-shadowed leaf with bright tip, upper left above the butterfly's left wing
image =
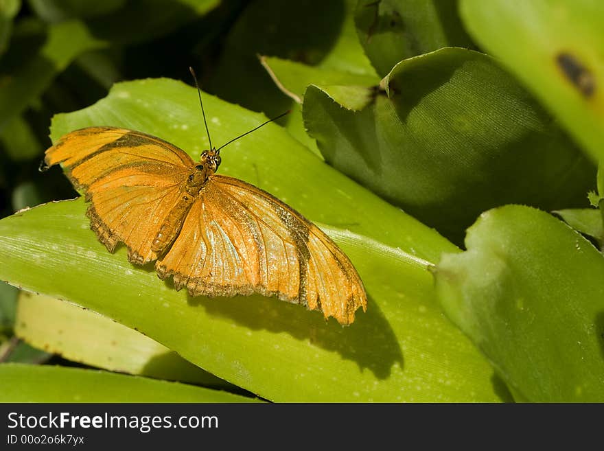
<svg viewBox="0 0 604 451">
<path fill-rule="evenodd" d="M 0 60 L 0 131 L 42 94 L 75 57 L 103 45 L 78 21 L 47 28 L 31 21 L 22 25 L 13 36 L 13 41 L 18 42 L 13 42 Z"/>
</svg>

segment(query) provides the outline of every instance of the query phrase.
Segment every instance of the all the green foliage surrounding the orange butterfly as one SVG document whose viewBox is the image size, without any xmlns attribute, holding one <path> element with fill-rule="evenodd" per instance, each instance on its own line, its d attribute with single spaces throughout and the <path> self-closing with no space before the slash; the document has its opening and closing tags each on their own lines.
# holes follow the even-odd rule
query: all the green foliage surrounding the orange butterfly
<svg viewBox="0 0 604 451">
<path fill-rule="evenodd" d="M 604 400 L 602 23 L 587 0 L 0 0 L 0 400 Z M 38 172 L 75 128 L 199 157 L 189 65 L 215 142 L 292 109 L 220 170 L 351 257 L 350 327 L 175 292 L 81 199 L 21 211 L 77 196 Z"/>
</svg>

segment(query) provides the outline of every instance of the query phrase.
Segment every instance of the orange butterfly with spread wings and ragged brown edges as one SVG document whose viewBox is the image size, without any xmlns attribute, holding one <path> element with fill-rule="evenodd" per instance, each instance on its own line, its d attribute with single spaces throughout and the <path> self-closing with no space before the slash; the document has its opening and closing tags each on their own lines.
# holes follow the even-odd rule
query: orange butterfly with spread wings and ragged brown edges
<svg viewBox="0 0 604 451">
<path fill-rule="evenodd" d="M 110 252 L 123 242 L 130 262 L 156 260 L 159 277 L 172 276 L 177 290 L 277 296 L 341 324 L 367 308 L 360 277 L 336 244 L 262 189 L 215 174 L 220 148 L 211 143 L 195 163 L 145 133 L 91 127 L 61 137 L 45 163 L 61 163 L 85 193 L 91 228 Z"/>
</svg>

